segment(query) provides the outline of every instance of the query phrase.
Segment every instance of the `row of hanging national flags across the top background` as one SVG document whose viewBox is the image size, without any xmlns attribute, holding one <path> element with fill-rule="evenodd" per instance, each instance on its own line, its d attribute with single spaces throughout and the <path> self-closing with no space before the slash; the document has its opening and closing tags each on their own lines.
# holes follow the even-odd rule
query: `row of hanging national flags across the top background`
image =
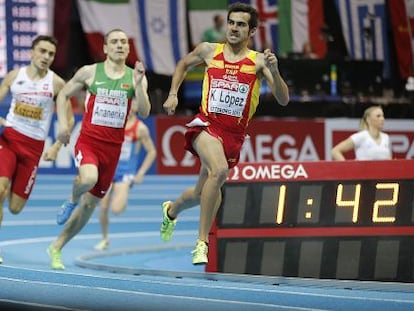
<svg viewBox="0 0 414 311">
<path fill-rule="evenodd" d="M 197 44 L 201 33 L 212 26 L 213 15 L 226 17 L 228 5 L 236 1 L 78 0 L 78 9 L 91 55 L 102 57 L 104 33 L 122 28 L 131 39 L 131 58 L 141 59 L 149 71 L 171 75 L 178 60 L 189 52 L 190 43 Z M 310 42 L 317 55 L 325 55 L 323 0 L 239 2 L 250 3 L 259 12 L 256 49 L 270 47 L 287 54 L 301 52 L 303 44 Z M 414 74 L 414 0 L 393 0 L 388 5 L 385 0 L 335 0 L 335 4 L 351 59 L 383 61 L 387 74 L 388 29 L 392 29 L 400 75 Z"/>
</svg>

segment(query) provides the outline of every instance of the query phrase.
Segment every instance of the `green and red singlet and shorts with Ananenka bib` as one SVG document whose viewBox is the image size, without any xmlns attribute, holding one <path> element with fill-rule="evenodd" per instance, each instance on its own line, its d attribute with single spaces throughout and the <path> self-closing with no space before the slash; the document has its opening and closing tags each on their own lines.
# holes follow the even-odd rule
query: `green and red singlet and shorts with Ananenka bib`
<svg viewBox="0 0 414 311">
<path fill-rule="evenodd" d="M 105 74 L 104 63 L 96 64 L 75 145 L 75 163 L 77 167 L 83 164 L 98 167 L 98 181 L 89 191 L 98 198 L 105 196 L 112 183 L 134 94 L 131 68 L 126 68 L 122 78 L 111 79 Z"/>
</svg>

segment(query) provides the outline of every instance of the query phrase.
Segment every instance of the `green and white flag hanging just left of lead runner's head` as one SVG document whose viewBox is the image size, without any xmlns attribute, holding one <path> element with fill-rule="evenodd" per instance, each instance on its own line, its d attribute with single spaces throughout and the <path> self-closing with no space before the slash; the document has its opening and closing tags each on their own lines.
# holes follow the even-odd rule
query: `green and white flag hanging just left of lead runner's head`
<svg viewBox="0 0 414 311">
<path fill-rule="evenodd" d="M 215 15 L 227 18 L 228 0 L 188 0 L 187 5 L 192 45 L 201 42 L 203 32 L 213 26 Z"/>
</svg>

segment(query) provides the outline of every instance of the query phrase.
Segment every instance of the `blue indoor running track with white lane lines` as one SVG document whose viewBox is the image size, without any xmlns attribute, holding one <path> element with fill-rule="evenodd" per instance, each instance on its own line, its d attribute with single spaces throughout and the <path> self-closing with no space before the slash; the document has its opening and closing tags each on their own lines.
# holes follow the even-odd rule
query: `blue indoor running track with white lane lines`
<svg viewBox="0 0 414 311">
<path fill-rule="evenodd" d="M 192 266 L 199 208 L 180 215 L 169 243 L 159 238 L 161 203 L 195 176 L 146 176 L 128 209 L 111 215 L 110 247 L 100 241 L 98 209 L 62 252 L 64 271 L 49 268 L 46 248 L 58 235 L 56 212 L 73 176 L 40 175 L 31 200 L 0 230 L 0 310 L 414 310 L 414 284 L 205 273 Z"/>
</svg>

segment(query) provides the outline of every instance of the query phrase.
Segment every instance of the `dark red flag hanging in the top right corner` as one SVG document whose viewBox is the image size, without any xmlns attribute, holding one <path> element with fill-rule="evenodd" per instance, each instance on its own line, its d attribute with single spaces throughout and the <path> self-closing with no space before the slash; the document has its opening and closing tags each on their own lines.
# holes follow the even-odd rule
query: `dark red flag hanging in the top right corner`
<svg viewBox="0 0 414 311">
<path fill-rule="evenodd" d="M 414 75 L 414 1 L 388 2 L 401 78 Z"/>
</svg>

